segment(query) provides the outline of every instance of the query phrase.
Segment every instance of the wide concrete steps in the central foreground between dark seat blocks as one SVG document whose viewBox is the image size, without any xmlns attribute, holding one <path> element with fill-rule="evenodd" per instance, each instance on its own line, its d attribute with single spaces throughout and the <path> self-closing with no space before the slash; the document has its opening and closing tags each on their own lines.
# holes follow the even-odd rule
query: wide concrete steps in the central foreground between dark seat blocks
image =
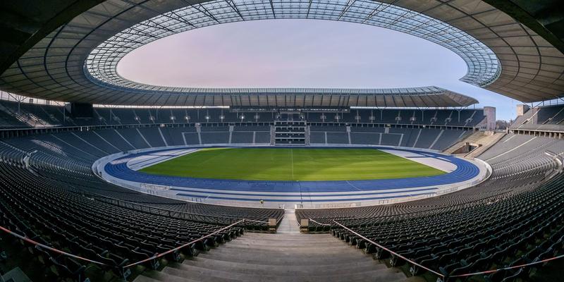
<svg viewBox="0 0 564 282">
<path fill-rule="evenodd" d="M 372 259 L 329 234 L 245 233 L 240 238 L 134 282 L 423 281 Z"/>
</svg>

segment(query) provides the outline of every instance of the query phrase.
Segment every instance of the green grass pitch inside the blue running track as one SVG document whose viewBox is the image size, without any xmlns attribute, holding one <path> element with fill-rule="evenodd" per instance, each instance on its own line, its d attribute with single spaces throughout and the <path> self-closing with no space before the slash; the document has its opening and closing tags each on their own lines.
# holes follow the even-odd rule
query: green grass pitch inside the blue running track
<svg viewBox="0 0 564 282">
<path fill-rule="evenodd" d="M 377 149 L 209 148 L 140 170 L 237 180 L 367 180 L 438 176 L 441 171 Z"/>
</svg>

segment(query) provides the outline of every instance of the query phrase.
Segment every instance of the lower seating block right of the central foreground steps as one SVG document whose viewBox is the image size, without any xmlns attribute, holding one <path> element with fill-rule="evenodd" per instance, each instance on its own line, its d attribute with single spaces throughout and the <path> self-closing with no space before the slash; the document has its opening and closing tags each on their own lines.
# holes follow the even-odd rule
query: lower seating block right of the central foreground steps
<svg viewBox="0 0 564 282">
<path fill-rule="evenodd" d="M 300 209 L 313 219 L 310 231 L 327 231 L 392 266 L 403 259 L 354 233 L 338 221 L 393 252 L 445 276 L 533 262 L 563 254 L 564 176 L 544 152 L 564 153 L 564 142 L 507 135 L 480 158 L 491 178 L 473 188 L 415 202 L 344 209 Z M 324 225 L 328 224 L 328 225 Z M 424 269 L 410 264 L 413 274 Z M 513 281 L 531 269 L 486 275 L 486 281 Z M 455 280 L 455 279 L 453 279 Z"/>
</svg>

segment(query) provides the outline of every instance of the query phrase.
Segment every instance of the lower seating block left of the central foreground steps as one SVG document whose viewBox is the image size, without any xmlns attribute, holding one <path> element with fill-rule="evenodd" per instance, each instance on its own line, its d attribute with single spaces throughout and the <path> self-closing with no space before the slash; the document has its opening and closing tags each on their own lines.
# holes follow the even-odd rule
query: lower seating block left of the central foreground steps
<svg viewBox="0 0 564 282">
<path fill-rule="evenodd" d="M 131 139 L 135 133 L 128 130 L 125 136 Z M 283 216 L 281 209 L 183 202 L 105 183 L 92 174 L 90 164 L 107 152 L 80 143 L 78 136 L 64 133 L 45 135 L 40 141 L 14 139 L 0 143 L 1 226 L 44 245 L 104 262 L 107 265 L 102 270 L 123 277 L 126 273 L 117 266 L 171 250 L 240 219 L 254 220 L 164 259 L 178 260 L 180 253 L 197 255 L 200 250 L 243 235 L 243 228 L 266 230 L 267 219 L 279 221 Z M 56 276 L 82 281 L 78 277 L 86 269 L 82 265 L 85 262 L 40 247 L 25 247 L 41 257 L 45 269 L 58 269 Z M 152 268 L 158 265 L 159 259 L 145 264 Z M 47 277 L 55 275 L 47 272 Z"/>
</svg>

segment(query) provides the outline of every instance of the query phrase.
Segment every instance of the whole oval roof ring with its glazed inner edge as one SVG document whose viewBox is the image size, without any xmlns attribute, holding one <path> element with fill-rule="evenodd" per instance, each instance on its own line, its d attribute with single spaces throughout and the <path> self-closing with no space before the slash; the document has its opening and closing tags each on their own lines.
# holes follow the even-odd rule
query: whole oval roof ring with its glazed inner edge
<svg viewBox="0 0 564 282">
<path fill-rule="evenodd" d="M 144 85 L 116 72 L 125 54 L 161 37 L 208 25 L 271 18 L 342 20 L 406 32 L 461 56 L 468 66 L 462 81 L 522 102 L 564 96 L 564 55 L 557 48 L 561 48 L 561 40 L 553 35 L 554 29 L 541 24 L 546 20 L 538 19 L 542 4 L 523 8 L 520 1 L 487 1 L 512 13 L 520 19 L 517 22 L 478 0 L 400 0 L 392 4 L 369 0 L 64 0 L 49 6 L 37 1 L 30 11 L 18 2 L 1 4 L 5 15 L 0 23 L 12 27 L 6 30 L 15 34 L 8 34 L 9 44 L 0 44 L 8 49 L 2 53 L 7 56 L 0 58 L 0 72 L 1 67 L 7 68 L 0 75 L 0 88 L 28 97 L 195 106 L 309 106 L 309 101 L 312 106 L 379 106 L 378 99 L 386 105 L 391 102 L 388 106 L 466 106 L 476 102 L 437 87 L 199 89 Z M 532 8 L 537 18 L 515 12 Z M 422 97 L 431 95 L 441 99 L 434 105 L 423 103 Z M 306 99 L 309 96 L 312 98 Z"/>
</svg>

